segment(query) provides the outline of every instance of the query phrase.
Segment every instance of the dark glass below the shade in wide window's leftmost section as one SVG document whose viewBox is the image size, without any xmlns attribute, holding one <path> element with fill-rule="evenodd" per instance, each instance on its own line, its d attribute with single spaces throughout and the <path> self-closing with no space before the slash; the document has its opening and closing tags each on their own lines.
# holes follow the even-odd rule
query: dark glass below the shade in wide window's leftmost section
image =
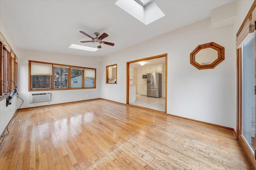
<svg viewBox="0 0 256 170">
<path fill-rule="evenodd" d="M 43 75 L 34 75 L 31 76 L 31 88 L 32 89 L 40 89 L 40 88 L 50 88 L 50 76 Z"/>
</svg>

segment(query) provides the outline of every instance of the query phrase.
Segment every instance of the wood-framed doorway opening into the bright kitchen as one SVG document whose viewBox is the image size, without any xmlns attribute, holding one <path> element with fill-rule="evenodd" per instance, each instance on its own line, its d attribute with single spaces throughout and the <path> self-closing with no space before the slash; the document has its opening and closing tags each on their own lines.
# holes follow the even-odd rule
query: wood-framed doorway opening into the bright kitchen
<svg viewBox="0 0 256 170">
<path fill-rule="evenodd" d="M 150 96 L 146 75 L 153 74 L 160 91 Z M 126 82 L 126 104 L 167 113 L 167 54 L 127 62 Z"/>
</svg>

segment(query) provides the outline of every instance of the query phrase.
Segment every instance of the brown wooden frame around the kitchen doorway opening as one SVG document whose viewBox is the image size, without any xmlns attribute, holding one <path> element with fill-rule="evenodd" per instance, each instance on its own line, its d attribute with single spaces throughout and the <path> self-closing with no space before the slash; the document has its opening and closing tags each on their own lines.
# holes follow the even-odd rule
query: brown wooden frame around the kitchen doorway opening
<svg viewBox="0 0 256 170">
<path fill-rule="evenodd" d="M 129 74 L 130 74 L 130 63 L 137 63 L 141 61 L 146 60 L 152 60 L 152 59 L 158 59 L 161 57 L 165 57 L 165 111 L 164 113 L 167 113 L 167 53 L 162 55 L 156 55 L 153 57 L 147 57 L 144 59 L 138 59 L 134 61 L 128 61 L 126 62 L 126 104 L 129 104 Z"/>
</svg>

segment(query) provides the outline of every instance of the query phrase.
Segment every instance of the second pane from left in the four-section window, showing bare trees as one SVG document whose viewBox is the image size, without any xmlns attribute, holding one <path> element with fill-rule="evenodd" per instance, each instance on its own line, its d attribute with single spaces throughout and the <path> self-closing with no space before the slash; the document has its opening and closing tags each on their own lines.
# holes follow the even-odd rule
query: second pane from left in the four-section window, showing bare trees
<svg viewBox="0 0 256 170">
<path fill-rule="evenodd" d="M 68 68 L 54 67 L 54 88 L 68 87 Z"/>
</svg>

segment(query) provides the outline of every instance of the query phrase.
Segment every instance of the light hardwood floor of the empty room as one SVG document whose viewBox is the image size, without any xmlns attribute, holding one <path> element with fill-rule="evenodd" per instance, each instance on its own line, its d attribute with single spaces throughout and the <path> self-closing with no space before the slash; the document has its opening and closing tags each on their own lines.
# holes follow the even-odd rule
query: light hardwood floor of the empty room
<svg viewBox="0 0 256 170">
<path fill-rule="evenodd" d="M 20 111 L 0 169 L 251 169 L 231 131 L 104 100 Z"/>
</svg>

